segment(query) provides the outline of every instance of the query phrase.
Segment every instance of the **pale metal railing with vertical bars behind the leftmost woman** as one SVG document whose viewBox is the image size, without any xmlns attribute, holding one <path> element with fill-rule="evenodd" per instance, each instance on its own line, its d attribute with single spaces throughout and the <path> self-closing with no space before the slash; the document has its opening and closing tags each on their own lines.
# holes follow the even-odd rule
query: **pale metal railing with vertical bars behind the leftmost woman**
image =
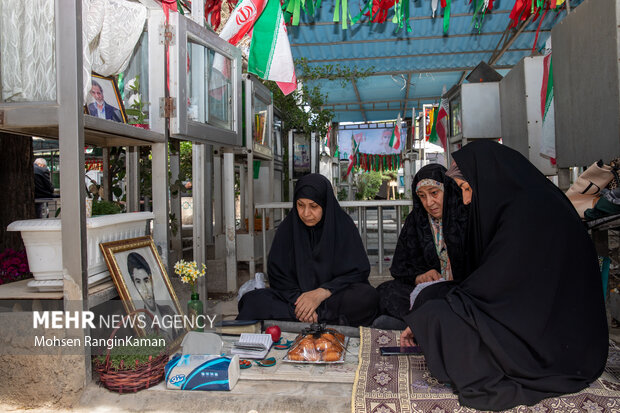
<svg viewBox="0 0 620 413">
<path fill-rule="evenodd" d="M 360 233 L 360 237 L 362 238 L 362 243 L 364 244 L 364 248 L 366 248 L 366 253 L 368 254 L 368 219 L 366 211 L 368 208 L 377 208 L 377 237 L 378 237 L 378 246 L 377 246 L 377 254 L 379 259 L 379 273 L 383 273 L 383 257 L 384 257 L 384 245 L 383 245 L 383 211 L 388 209 L 396 210 L 396 238 L 398 239 L 398 235 L 400 234 L 401 229 L 401 212 L 403 207 L 411 208 L 411 200 L 394 200 L 394 201 L 341 201 L 339 202 L 340 206 L 347 211 L 351 215 L 350 211 L 357 212 L 357 220 L 353 219 L 356 222 L 358 231 Z M 282 222 L 285 216 L 285 210 L 288 211 L 293 207 L 292 202 L 269 202 L 265 204 L 256 204 L 256 209 L 260 211 L 261 216 L 265 217 L 272 210 L 280 210 L 280 220 Z M 353 217 L 352 217 L 353 218 Z M 274 221 L 276 221 L 274 219 Z M 274 228 L 276 227 L 276 223 L 274 222 Z M 265 220 L 263 220 L 263 225 L 261 228 L 262 236 L 263 236 L 263 272 L 267 273 L 267 237 L 266 237 L 266 228 L 265 228 Z"/>
</svg>

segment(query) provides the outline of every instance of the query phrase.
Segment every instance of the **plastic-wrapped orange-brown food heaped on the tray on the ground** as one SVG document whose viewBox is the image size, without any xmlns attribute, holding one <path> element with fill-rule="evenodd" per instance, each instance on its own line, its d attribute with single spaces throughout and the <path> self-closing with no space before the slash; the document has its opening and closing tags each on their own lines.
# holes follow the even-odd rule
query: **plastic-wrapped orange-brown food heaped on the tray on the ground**
<svg viewBox="0 0 620 413">
<path fill-rule="evenodd" d="M 338 331 L 312 324 L 302 331 L 289 349 L 285 360 L 306 363 L 333 363 L 344 359 L 346 337 Z"/>
</svg>

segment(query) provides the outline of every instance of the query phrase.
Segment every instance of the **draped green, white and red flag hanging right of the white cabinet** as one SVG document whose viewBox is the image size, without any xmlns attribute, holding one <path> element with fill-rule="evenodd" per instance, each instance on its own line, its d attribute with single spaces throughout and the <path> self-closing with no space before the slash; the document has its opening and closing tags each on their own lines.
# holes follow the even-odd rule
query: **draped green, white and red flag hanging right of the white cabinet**
<svg viewBox="0 0 620 413">
<path fill-rule="evenodd" d="M 270 0 L 254 25 L 248 72 L 277 82 L 285 95 L 297 88 L 291 45 L 279 0 Z"/>
</svg>

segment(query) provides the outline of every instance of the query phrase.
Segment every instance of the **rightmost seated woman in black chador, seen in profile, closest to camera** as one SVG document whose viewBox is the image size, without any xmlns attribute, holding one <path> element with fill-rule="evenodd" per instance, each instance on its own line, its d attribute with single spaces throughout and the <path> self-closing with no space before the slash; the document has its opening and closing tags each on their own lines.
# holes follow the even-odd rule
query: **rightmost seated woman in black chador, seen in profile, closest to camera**
<svg viewBox="0 0 620 413">
<path fill-rule="evenodd" d="M 420 293 L 401 343 L 462 405 L 504 410 L 582 390 L 608 334 L 594 245 L 566 196 L 518 152 L 478 141 L 448 172 L 470 203 L 469 276 Z M 460 170 L 460 171 L 459 171 Z"/>
</svg>

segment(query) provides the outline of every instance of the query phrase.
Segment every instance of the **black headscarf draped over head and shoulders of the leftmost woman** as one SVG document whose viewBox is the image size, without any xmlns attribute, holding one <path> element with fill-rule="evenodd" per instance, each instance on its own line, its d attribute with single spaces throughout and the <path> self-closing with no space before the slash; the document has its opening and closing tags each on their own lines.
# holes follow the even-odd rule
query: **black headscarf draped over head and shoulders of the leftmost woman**
<svg viewBox="0 0 620 413">
<path fill-rule="evenodd" d="M 306 226 L 297 200 L 308 198 L 323 208 L 321 221 Z M 368 282 L 370 263 L 351 217 L 334 197 L 323 175 L 297 181 L 293 208 L 278 227 L 268 261 L 269 286 L 291 303 L 306 291 L 325 288 L 332 294 L 353 283 Z"/>
</svg>

